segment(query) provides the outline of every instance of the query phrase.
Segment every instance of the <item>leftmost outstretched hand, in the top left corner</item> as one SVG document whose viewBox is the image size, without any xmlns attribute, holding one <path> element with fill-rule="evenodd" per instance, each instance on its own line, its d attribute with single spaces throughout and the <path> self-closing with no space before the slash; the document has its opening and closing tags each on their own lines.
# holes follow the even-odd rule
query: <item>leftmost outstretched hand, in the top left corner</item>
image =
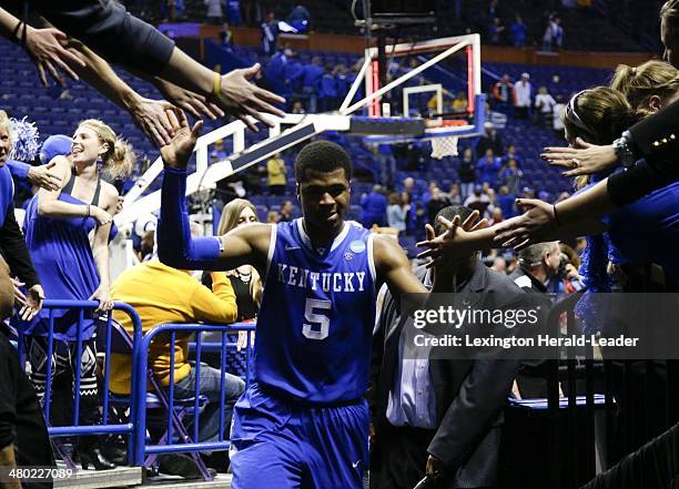
<svg viewBox="0 0 679 489">
<path fill-rule="evenodd" d="M 17 35 L 21 39 L 22 29 L 20 28 Z M 40 82 L 48 86 L 47 72 L 59 83 L 64 85 L 63 79 L 57 72 L 60 69 L 73 80 L 78 80 L 78 74 L 67 64 L 68 62 L 85 67 L 87 63 L 80 55 L 73 51 L 65 49 L 61 43 L 65 42 L 68 35 L 59 29 L 33 29 L 27 27 L 26 31 L 26 52 L 36 63 Z"/>
</svg>

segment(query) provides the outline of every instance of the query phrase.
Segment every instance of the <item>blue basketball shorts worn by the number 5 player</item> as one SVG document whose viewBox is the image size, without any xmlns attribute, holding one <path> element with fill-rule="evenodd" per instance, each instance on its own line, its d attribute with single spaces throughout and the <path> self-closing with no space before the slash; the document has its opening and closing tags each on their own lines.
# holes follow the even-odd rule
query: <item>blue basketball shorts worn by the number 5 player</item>
<svg viewBox="0 0 679 489">
<path fill-rule="evenodd" d="M 362 489 L 368 463 L 365 400 L 318 407 L 253 384 L 234 407 L 233 489 Z"/>
</svg>

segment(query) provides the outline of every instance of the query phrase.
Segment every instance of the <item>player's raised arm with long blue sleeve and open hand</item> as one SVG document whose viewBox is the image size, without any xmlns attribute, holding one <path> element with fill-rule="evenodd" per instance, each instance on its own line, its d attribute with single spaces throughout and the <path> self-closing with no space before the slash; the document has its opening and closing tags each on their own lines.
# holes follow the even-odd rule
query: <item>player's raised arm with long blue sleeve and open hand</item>
<svg viewBox="0 0 679 489">
<path fill-rule="evenodd" d="M 174 136 L 161 147 L 165 164 L 161 193 L 161 217 L 158 225 L 158 256 L 161 262 L 182 269 L 232 269 L 243 264 L 254 265 L 260 273 L 266 266 L 272 227 L 252 224 L 233 230 L 221 237 L 191 236 L 186 208 L 186 165 L 202 121 L 193 129 L 183 112 L 168 111 Z"/>
</svg>

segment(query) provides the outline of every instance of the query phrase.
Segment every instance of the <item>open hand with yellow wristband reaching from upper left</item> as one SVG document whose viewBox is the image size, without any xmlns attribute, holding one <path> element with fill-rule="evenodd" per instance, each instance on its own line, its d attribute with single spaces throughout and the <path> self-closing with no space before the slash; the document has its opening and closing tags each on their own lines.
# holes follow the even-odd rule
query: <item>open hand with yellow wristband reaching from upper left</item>
<svg viewBox="0 0 679 489">
<path fill-rule="evenodd" d="M 250 68 L 233 70 L 222 77 L 221 89 L 222 94 L 215 98 L 227 113 L 242 120 L 247 128 L 253 131 L 259 131 L 256 125 L 247 118 L 249 115 L 255 120 L 265 123 L 273 128 L 273 122 L 264 118 L 264 113 L 283 118 L 285 113 L 276 109 L 274 103 L 285 103 L 285 99 L 267 90 L 260 89 L 252 83 L 252 80 L 260 71 L 260 63 L 255 63 Z"/>
</svg>

